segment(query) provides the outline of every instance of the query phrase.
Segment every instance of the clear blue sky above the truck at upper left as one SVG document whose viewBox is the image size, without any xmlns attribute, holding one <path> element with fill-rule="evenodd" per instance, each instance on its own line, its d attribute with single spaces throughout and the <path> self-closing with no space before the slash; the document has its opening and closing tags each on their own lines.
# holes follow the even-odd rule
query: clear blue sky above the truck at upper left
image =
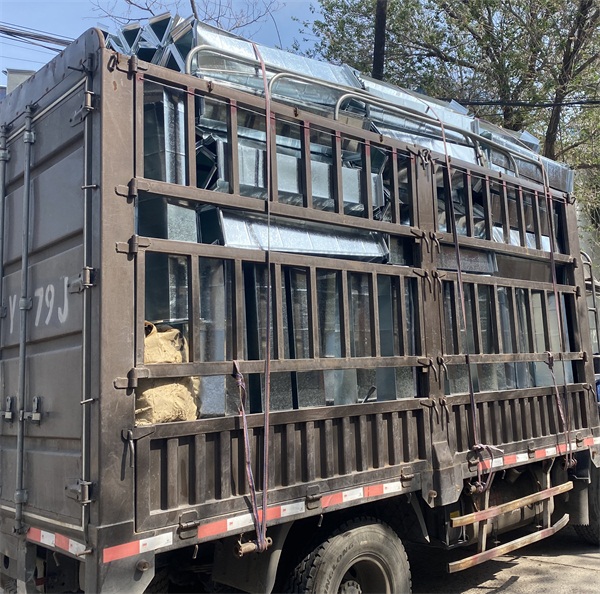
<svg viewBox="0 0 600 594">
<path fill-rule="evenodd" d="M 311 2 L 280 0 L 280 3 L 282 6 L 273 14 L 273 19 L 263 23 L 253 39 L 265 45 L 285 48 L 290 47 L 294 39 L 300 38 L 300 24 L 293 17 L 301 20 L 310 18 Z M 182 5 L 185 6 L 185 3 Z M 183 9 L 180 11 L 183 17 L 189 16 L 189 13 L 189 10 L 185 13 Z M 101 26 L 111 32 L 117 29 L 117 25 L 93 10 L 90 0 L 0 0 L 0 22 L 73 39 L 91 27 Z M 56 52 L 43 47 L 0 37 L 0 85 L 6 84 L 7 68 L 37 70 L 55 55 Z"/>
</svg>

